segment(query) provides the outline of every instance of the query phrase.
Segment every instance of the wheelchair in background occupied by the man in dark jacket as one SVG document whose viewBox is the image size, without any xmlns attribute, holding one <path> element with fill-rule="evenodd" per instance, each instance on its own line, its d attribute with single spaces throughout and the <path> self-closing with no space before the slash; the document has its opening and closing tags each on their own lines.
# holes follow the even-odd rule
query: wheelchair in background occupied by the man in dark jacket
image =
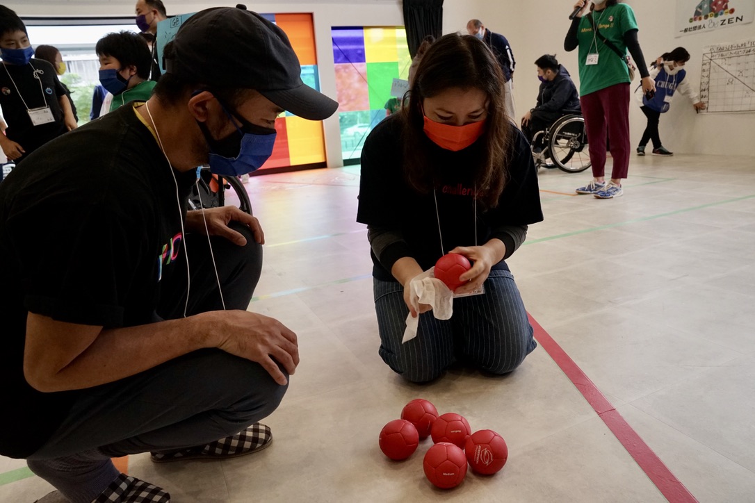
<svg viewBox="0 0 755 503">
<path fill-rule="evenodd" d="M 587 143 L 584 117 L 579 110 L 566 110 L 546 130 L 538 131 L 532 138 L 532 156 L 537 167 L 558 167 L 566 173 L 581 173 L 592 164 Z M 535 152 L 535 145 L 542 145 Z"/>
</svg>

